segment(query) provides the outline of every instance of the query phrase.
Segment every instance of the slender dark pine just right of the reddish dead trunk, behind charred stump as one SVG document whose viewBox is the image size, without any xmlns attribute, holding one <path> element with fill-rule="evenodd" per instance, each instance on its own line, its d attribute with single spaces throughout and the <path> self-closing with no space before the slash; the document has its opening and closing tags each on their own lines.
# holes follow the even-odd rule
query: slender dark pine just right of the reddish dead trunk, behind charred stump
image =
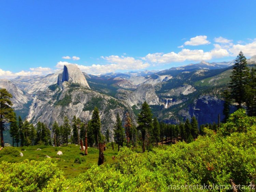
<svg viewBox="0 0 256 192">
<path fill-rule="evenodd" d="M 99 116 L 99 109 L 97 107 L 93 110 L 93 115 L 91 117 L 91 126 L 94 131 L 95 141 L 97 142 L 97 147 L 99 147 L 99 141 L 101 141 L 101 122 L 100 122 L 100 116 Z"/>
</svg>

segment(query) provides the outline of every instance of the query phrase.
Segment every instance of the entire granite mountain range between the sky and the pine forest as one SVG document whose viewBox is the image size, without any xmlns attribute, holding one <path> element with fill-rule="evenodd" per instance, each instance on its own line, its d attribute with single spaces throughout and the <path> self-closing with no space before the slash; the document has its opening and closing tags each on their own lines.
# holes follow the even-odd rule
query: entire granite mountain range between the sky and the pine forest
<svg viewBox="0 0 256 192">
<path fill-rule="evenodd" d="M 49 127 L 54 121 L 61 124 L 64 116 L 88 121 L 97 106 L 102 132 L 108 129 L 113 133 L 116 114 L 124 119 L 129 112 L 136 124 L 144 101 L 160 121 L 178 123 L 196 116 L 199 124 L 204 124 L 217 122 L 218 114 L 224 118 L 221 92 L 229 82 L 234 62 L 202 61 L 162 71 L 101 75 L 87 74 L 69 64 L 44 77 L 0 79 L 0 88 L 13 95 L 18 115 Z M 254 66 L 256 55 L 247 62 L 249 67 Z"/>
</svg>

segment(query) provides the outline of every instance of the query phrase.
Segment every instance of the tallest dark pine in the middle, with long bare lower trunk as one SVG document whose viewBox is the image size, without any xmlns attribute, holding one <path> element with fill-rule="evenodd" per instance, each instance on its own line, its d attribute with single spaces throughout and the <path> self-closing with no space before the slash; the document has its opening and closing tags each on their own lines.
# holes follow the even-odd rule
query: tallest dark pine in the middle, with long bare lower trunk
<svg viewBox="0 0 256 192">
<path fill-rule="evenodd" d="M 152 113 L 147 102 L 144 102 L 141 107 L 141 112 L 138 115 L 138 129 L 141 131 L 142 135 L 142 152 L 145 152 L 145 137 L 146 132 L 152 129 Z"/>
</svg>

